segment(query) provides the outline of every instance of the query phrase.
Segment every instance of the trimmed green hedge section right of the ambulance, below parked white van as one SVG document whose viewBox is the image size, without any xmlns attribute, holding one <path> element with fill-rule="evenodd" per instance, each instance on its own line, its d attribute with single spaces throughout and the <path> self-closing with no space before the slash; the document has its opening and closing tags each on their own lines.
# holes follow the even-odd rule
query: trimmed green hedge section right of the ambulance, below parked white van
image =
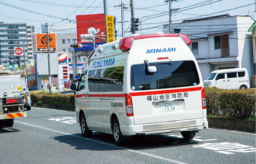
<svg viewBox="0 0 256 164">
<path fill-rule="evenodd" d="M 206 87 L 208 115 L 224 115 L 226 118 L 248 119 L 256 114 L 254 89 L 224 90 Z"/>
</svg>

